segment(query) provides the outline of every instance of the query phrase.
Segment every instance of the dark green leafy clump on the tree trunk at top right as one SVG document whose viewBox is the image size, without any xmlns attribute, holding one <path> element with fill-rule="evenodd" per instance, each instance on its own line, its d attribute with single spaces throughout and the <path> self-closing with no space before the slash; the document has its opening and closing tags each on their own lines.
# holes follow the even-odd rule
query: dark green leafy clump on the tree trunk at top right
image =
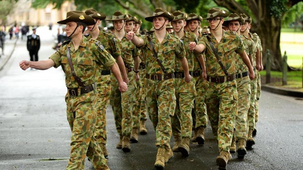
<svg viewBox="0 0 303 170">
<path fill-rule="evenodd" d="M 275 19 L 281 20 L 283 14 L 287 11 L 287 0 L 270 0 L 266 1 L 266 6 L 269 8 L 270 16 Z"/>
</svg>

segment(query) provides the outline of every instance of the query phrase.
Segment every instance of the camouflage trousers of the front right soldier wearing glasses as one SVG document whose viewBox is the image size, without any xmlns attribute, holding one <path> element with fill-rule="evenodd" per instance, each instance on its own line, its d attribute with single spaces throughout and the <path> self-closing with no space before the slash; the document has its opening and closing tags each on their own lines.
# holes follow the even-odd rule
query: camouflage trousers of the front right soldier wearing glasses
<svg viewBox="0 0 303 170">
<path fill-rule="evenodd" d="M 205 103 L 213 134 L 218 140 L 219 149 L 220 151 L 229 151 L 234 120 L 238 112 L 236 80 L 222 83 L 208 81 Z"/>
</svg>

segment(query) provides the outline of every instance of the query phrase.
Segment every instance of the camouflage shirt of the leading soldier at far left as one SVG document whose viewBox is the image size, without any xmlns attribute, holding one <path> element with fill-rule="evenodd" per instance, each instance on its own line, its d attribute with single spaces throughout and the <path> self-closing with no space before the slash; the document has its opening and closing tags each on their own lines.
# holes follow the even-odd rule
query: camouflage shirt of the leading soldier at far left
<svg viewBox="0 0 303 170">
<path fill-rule="evenodd" d="M 97 64 L 103 65 L 105 69 L 110 69 L 115 63 L 115 59 L 103 47 L 103 45 L 94 39 L 87 40 L 83 36 L 80 46 L 75 50 L 73 42 L 67 41 L 61 45 L 60 49 L 51 55 L 55 68 L 62 65 L 65 72 L 65 83 L 67 88 L 79 88 L 80 85 L 72 75 L 71 68 L 67 59 L 67 47 L 70 47 L 70 55 L 76 75 L 88 86 L 96 81 Z"/>
</svg>

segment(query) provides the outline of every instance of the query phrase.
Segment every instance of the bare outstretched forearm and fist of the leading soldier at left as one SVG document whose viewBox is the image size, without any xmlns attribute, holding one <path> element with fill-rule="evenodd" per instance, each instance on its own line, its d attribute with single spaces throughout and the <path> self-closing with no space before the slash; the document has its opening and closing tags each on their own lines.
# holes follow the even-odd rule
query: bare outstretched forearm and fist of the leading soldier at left
<svg viewBox="0 0 303 170">
<path fill-rule="evenodd" d="M 26 61 L 23 60 L 19 62 L 19 66 L 21 69 L 26 70 L 27 68 L 35 68 L 40 70 L 45 70 L 51 68 L 55 65 L 55 62 L 52 59 L 41 60 L 41 61 Z"/>
</svg>

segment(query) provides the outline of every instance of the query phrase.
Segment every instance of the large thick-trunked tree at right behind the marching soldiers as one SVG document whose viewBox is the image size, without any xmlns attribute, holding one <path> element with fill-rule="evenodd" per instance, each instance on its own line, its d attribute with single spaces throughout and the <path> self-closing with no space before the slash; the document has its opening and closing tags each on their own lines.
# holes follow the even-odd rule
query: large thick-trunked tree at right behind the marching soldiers
<svg viewBox="0 0 303 170">
<path fill-rule="evenodd" d="M 280 35 L 282 18 L 287 10 L 299 3 L 300 0 L 214 0 L 219 6 L 227 8 L 232 13 L 246 14 L 252 17 L 252 31 L 257 32 L 262 41 L 263 56 L 266 56 L 266 49 L 269 49 L 272 69 L 281 70 L 282 55 L 280 49 Z M 265 61 L 263 57 L 263 61 Z M 263 62 L 264 63 L 264 62 Z"/>
</svg>

